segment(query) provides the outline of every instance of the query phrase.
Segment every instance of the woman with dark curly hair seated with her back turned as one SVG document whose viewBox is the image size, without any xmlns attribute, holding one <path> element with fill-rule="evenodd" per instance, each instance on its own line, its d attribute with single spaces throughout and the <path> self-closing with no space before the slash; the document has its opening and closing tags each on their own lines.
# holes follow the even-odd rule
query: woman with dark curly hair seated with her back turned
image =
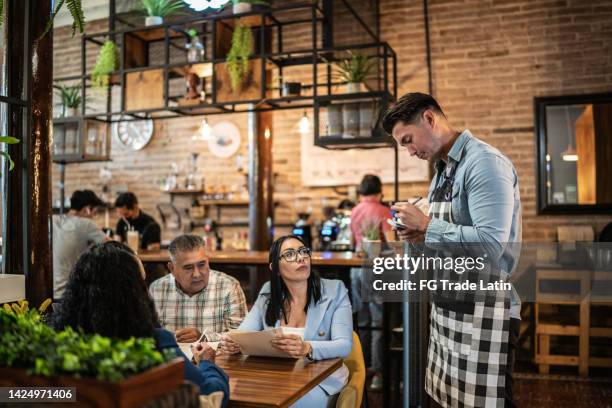
<svg viewBox="0 0 612 408">
<path fill-rule="evenodd" d="M 198 385 L 200 394 L 222 391 L 223 405 L 227 405 L 228 377 L 209 361 L 214 350 L 203 345 L 194 350 L 195 364 L 187 359 L 174 335 L 160 327 L 142 263 L 123 244 L 94 245 L 81 255 L 52 323 L 56 329 L 80 327 L 85 333 L 106 337 L 153 337 L 158 349 L 171 349 L 184 358 L 185 379 Z"/>
</svg>

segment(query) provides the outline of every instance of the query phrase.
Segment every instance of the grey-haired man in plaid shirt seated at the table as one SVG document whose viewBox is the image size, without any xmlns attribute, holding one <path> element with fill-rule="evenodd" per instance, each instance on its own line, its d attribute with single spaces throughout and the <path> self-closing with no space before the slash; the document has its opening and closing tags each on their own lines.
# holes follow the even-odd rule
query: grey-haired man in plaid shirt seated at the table
<svg viewBox="0 0 612 408">
<path fill-rule="evenodd" d="M 209 268 L 205 243 L 198 235 L 181 235 L 169 247 L 171 274 L 149 291 L 159 320 L 179 343 L 217 341 L 236 329 L 247 312 L 238 280 Z"/>
</svg>

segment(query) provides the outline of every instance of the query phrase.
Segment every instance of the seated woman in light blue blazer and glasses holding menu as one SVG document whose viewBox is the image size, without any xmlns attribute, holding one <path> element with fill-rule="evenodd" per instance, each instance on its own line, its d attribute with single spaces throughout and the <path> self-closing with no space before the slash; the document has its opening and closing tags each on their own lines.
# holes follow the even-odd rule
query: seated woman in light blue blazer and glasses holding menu
<svg viewBox="0 0 612 408">
<path fill-rule="evenodd" d="M 344 358 L 353 347 L 351 304 L 342 281 L 320 279 L 310 270 L 310 248 L 298 236 L 287 235 L 270 248 L 270 281 L 238 330 L 267 330 L 283 327 L 274 347 L 289 356 L 324 360 Z M 302 335 L 303 333 L 303 335 Z M 227 336 L 221 341 L 224 353 L 240 348 Z M 343 364 L 293 407 L 327 407 L 346 385 L 348 369 Z"/>
</svg>

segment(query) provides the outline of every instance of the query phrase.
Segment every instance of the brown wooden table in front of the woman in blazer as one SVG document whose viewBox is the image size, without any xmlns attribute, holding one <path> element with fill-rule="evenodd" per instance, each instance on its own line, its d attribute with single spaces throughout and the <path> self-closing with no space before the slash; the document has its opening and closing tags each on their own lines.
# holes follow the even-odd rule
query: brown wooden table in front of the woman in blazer
<svg viewBox="0 0 612 408">
<path fill-rule="evenodd" d="M 339 358 L 308 363 L 241 354 L 219 355 L 215 363 L 230 378 L 230 407 L 288 407 L 342 366 Z"/>
</svg>

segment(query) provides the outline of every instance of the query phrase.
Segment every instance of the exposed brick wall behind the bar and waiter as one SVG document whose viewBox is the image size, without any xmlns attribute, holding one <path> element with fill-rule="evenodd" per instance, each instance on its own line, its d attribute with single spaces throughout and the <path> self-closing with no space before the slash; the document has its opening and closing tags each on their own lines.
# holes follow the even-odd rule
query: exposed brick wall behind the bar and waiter
<svg viewBox="0 0 612 408">
<path fill-rule="evenodd" d="M 535 143 L 533 98 L 612 91 L 612 5 L 609 1 L 433 1 L 430 5 L 434 95 L 457 129 L 468 127 L 477 137 L 499 148 L 513 161 L 521 184 L 523 234 L 526 240 L 554 240 L 556 226 L 592 224 L 600 229 L 610 216 L 536 216 Z M 423 7 L 420 1 L 381 0 L 381 36 L 398 54 L 399 93 L 427 92 L 427 65 Z M 88 30 L 102 31 L 104 22 Z M 78 39 L 68 28 L 57 29 L 55 75 L 78 72 Z M 95 58 L 95 55 L 94 55 Z M 88 58 L 88 62 L 90 58 Z M 312 112 L 308 112 L 312 117 Z M 277 222 L 294 218 L 294 198 L 334 196 L 331 188 L 307 189 L 300 183 L 300 135 L 297 123 L 302 111 L 275 114 L 273 129 L 275 199 L 280 202 Z M 234 122 L 242 131 L 241 152 L 246 158 L 246 115 L 211 116 Z M 113 183 L 124 184 L 141 199 L 145 211 L 154 213 L 157 202 L 169 197 L 159 181 L 170 163 L 184 164 L 193 150 L 192 134 L 198 118 L 157 121 L 153 141 L 144 150 L 130 152 L 113 144 Z M 208 185 L 240 186 L 244 176 L 235 159 L 215 159 L 201 150 L 200 168 Z M 101 189 L 101 164 L 67 167 L 66 191 Z M 53 169 L 57 197 L 58 169 Z M 401 197 L 425 194 L 427 183 L 406 183 Z M 392 197 L 392 186 L 385 195 Z M 229 218 L 246 217 L 246 210 L 227 212 Z M 315 212 L 314 218 L 319 217 Z M 227 231 L 228 235 L 234 231 Z"/>
</svg>

